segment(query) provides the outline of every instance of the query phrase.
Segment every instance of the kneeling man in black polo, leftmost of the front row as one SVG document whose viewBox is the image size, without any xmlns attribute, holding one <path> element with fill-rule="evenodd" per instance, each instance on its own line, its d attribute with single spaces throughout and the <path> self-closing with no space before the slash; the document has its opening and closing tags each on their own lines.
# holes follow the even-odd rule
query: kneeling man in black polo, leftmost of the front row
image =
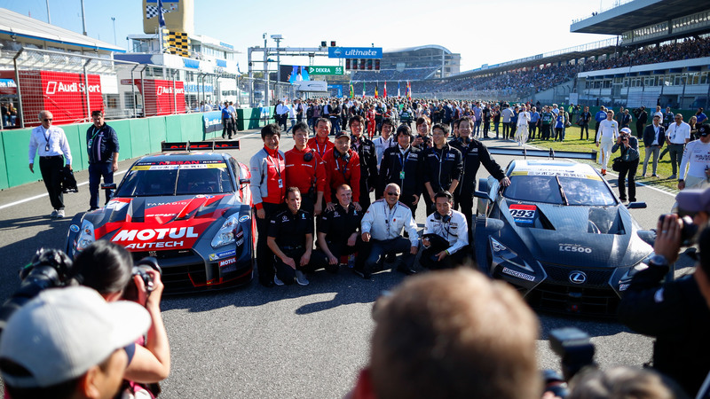
<svg viewBox="0 0 710 399">
<path fill-rule="evenodd" d="M 287 209 L 272 217 L 266 241 L 272 250 L 277 286 L 298 283 L 308 286 L 304 271 L 312 271 L 309 263 L 313 248 L 313 216 L 301 209 L 301 191 L 297 187 L 286 190 Z"/>
</svg>

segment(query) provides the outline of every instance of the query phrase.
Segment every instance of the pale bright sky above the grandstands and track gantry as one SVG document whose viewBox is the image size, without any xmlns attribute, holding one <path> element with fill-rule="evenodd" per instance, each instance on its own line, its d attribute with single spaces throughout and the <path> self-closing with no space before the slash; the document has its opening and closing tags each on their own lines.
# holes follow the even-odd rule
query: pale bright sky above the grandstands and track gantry
<svg viewBox="0 0 710 399">
<path fill-rule="evenodd" d="M 623 0 L 626 3 L 627 0 Z M 572 20 L 611 8 L 619 0 L 527 0 L 438 3 L 431 0 L 347 2 L 193 0 L 194 29 L 233 44 L 246 72 L 248 47 L 263 46 L 262 35 L 283 35 L 282 47 L 318 47 L 334 41 L 345 47 L 388 49 L 438 44 L 461 54 L 461 71 L 522 59 L 614 37 L 570 33 Z M 82 32 L 80 0 L 0 0 L 0 8 Z M 91 37 L 128 48 L 126 36 L 143 33 L 141 0 L 84 0 Z M 341 5 L 343 4 L 343 5 Z M 111 18 L 115 19 L 115 22 Z M 269 46 L 275 47 L 270 39 Z M 256 53 L 256 57 L 262 57 Z M 307 65 L 308 59 L 281 57 L 281 64 Z M 335 65 L 318 58 L 314 65 Z M 259 64 L 256 64 L 259 65 Z M 257 66 L 260 67 L 260 66 Z M 274 66 L 275 67 L 275 66 Z"/>
</svg>

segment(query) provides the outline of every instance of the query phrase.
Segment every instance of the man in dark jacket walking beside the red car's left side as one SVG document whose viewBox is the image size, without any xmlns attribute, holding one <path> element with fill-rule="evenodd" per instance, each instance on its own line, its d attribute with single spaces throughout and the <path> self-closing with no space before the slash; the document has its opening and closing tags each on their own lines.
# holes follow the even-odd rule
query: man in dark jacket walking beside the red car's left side
<svg viewBox="0 0 710 399">
<path fill-rule="evenodd" d="M 114 128 L 104 122 L 104 112 L 92 111 L 94 124 L 86 130 L 86 150 L 89 153 L 89 211 L 99 209 L 99 183 L 114 183 L 114 172 L 118 170 L 118 135 Z M 113 192 L 106 190 L 106 203 Z"/>
</svg>

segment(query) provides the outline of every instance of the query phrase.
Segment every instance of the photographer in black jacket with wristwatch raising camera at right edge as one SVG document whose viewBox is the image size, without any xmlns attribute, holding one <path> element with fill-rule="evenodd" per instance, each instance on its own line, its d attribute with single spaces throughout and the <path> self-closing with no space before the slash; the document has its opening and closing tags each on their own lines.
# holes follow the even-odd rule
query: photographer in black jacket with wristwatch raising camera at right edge
<svg viewBox="0 0 710 399">
<path fill-rule="evenodd" d="M 710 215 L 710 190 L 676 196 L 680 215 L 662 215 L 648 268 L 637 271 L 619 303 L 621 323 L 655 337 L 653 368 L 695 395 L 710 371 L 710 309 L 698 287 L 698 274 L 663 282 L 682 246 L 694 240 Z M 692 215 L 692 219 L 690 218 Z M 700 246 L 700 254 L 706 250 Z M 702 256 L 701 256 L 702 257 Z"/>
</svg>

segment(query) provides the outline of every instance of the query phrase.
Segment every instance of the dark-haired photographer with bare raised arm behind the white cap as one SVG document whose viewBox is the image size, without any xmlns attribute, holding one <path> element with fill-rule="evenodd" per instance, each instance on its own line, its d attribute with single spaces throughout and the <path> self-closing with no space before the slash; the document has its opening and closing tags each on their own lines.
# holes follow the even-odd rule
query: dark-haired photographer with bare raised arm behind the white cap
<svg viewBox="0 0 710 399">
<path fill-rule="evenodd" d="M 125 248 L 99 239 L 76 256 L 70 277 L 99 292 L 107 302 L 135 301 L 146 308 L 151 325 L 147 339 L 136 341 L 135 354 L 123 376 L 123 390 L 155 396 L 160 392 L 156 383 L 170 374 L 170 344 L 160 309 L 160 267 L 150 259 L 134 266 Z"/>
</svg>

